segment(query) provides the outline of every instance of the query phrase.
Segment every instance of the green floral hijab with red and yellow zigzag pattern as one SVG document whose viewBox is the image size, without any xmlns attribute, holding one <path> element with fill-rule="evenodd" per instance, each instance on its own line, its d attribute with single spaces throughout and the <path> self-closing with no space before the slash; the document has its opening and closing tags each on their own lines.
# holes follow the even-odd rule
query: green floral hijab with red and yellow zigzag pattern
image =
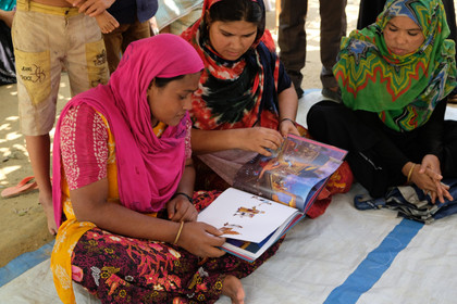
<svg viewBox="0 0 457 304">
<path fill-rule="evenodd" d="M 425 37 L 406 55 L 387 50 L 383 29 L 396 16 L 411 18 Z M 343 102 L 353 110 L 379 114 L 397 131 L 425 124 L 436 104 L 457 85 L 455 43 L 441 0 L 388 0 L 374 24 L 342 40 L 333 68 Z"/>
</svg>

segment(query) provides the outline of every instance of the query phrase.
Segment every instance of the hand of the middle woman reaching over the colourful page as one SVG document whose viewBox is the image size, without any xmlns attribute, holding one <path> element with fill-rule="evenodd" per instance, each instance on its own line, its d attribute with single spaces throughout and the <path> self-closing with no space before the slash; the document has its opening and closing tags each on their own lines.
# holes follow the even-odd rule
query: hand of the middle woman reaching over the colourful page
<svg viewBox="0 0 457 304">
<path fill-rule="evenodd" d="M 238 130 L 240 149 L 254 151 L 264 156 L 271 156 L 272 153 L 270 151 L 277 150 L 283 143 L 281 134 L 273 129 L 254 127 Z"/>
</svg>

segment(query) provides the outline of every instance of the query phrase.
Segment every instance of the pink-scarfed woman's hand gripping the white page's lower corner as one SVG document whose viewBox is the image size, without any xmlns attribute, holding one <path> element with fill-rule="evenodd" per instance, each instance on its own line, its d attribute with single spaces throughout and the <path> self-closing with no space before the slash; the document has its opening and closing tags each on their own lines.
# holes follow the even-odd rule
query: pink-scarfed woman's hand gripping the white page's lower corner
<svg viewBox="0 0 457 304">
<path fill-rule="evenodd" d="M 201 221 L 190 221 L 183 226 L 177 244 L 200 257 L 219 257 L 225 252 L 218 246 L 225 243 L 222 232 L 215 227 Z"/>
</svg>

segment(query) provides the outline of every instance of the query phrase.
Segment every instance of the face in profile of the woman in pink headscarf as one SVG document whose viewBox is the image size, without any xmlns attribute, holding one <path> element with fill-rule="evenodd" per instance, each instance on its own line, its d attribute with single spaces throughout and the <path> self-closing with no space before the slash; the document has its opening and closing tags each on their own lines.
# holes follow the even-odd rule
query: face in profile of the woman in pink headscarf
<svg viewBox="0 0 457 304">
<path fill-rule="evenodd" d="M 176 126 L 192 109 L 190 97 L 198 89 L 200 72 L 188 74 L 181 79 L 173 80 L 164 87 L 155 84 L 148 90 L 148 102 L 152 114 L 152 126 L 162 122 L 169 126 Z"/>
</svg>

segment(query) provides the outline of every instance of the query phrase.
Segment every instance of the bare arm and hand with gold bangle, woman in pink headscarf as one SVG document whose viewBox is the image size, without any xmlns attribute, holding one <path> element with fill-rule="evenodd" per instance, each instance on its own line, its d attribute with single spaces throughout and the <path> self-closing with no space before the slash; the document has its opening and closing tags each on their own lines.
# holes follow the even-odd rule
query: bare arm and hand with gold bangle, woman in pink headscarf
<svg viewBox="0 0 457 304">
<path fill-rule="evenodd" d="M 173 243 L 181 223 L 150 217 L 121 204 L 107 202 L 108 179 L 71 190 L 73 210 L 77 220 L 91 221 L 97 227 L 131 238 Z M 177 244 L 198 256 L 221 256 L 217 246 L 225 242 L 214 227 L 198 221 L 185 223 Z"/>
</svg>

